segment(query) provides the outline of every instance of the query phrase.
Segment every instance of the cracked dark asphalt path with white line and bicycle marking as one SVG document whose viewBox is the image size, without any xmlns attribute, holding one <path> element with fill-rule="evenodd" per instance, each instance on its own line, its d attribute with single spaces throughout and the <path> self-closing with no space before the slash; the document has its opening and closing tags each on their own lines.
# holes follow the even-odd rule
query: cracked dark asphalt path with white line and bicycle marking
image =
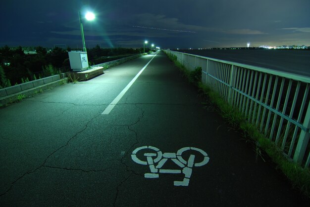
<svg viewBox="0 0 310 207">
<path fill-rule="evenodd" d="M 309 204 L 203 102 L 159 52 L 0 108 L 0 206 Z"/>
</svg>

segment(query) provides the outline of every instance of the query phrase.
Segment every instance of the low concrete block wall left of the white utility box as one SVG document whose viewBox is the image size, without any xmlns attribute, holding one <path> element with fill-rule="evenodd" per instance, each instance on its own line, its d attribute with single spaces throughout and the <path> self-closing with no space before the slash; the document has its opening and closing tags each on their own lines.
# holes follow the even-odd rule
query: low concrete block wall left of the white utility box
<svg viewBox="0 0 310 207">
<path fill-rule="evenodd" d="M 34 88 L 46 83 L 52 83 L 54 81 L 58 81 L 60 80 L 60 76 L 59 75 L 54 75 L 54 76 L 50 76 L 47 78 L 43 78 L 43 79 L 39 79 L 39 80 L 35 80 L 35 81 L 30 81 L 27 83 L 21 83 L 18 85 L 14 85 L 14 86 L 10 86 L 10 87 L 6 87 L 6 88 L 2 88 L 0 89 L 0 97 L 5 97 L 8 95 L 12 95 L 24 90 L 28 90 L 30 88 Z"/>
</svg>

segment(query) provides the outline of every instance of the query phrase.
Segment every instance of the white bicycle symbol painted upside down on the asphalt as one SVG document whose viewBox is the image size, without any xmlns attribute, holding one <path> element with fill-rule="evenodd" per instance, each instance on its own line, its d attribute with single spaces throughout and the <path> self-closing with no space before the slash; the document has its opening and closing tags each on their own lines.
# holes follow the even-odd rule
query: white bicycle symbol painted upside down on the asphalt
<svg viewBox="0 0 310 207">
<path fill-rule="evenodd" d="M 144 153 L 144 156 L 147 158 L 147 161 L 142 161 L 139 158 L 137 158 L 137 153 L 140 150 L 153 150 L 155 153 Z M 197 151 L 200 154 L 203 155 L 204 159 L 200 163 L 195 163 L 195 155 L 191 154 L 189 156 L 189 159 L 186 161 L 183 157 L 182 154 L 186 151 Z M 209 162 L 209 157 L 207 156 L 207 153 L 199 148 L 196 147 L 183 147 L 178 150 L 177 153 L 163 153 L 156 147 L 152 146 L 143 146 L 143 147 L 138 147 L 135 149 L 132 154 L 131 154 L 131 159 L 140 165 L 145 165 L 149 166 L 151 173 L 145 173 L 144 177 L 145 178 L 158 178 L 159 173 L 183 173 L 184 174 L 184 179 L 183 181 L 174 181 L 175 186 L 188 186 L 190 182 L 190 178 L 192 175 L 192 168 L 198 167 L 198 166 L 204 166 Z M 161 169 L 161 167 L 167 162 L 167 160 L 170 159 L 172 162 L 174 162 L 177 166 L 181 167 L 181 169 Z M 155 166 L 155 163 L 158 163 Z"/>
</svg>

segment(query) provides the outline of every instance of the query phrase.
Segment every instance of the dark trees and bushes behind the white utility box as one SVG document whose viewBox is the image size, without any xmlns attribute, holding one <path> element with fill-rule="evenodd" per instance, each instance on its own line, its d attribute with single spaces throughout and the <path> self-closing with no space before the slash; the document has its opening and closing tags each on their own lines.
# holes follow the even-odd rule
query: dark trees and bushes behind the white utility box
<svg viewBox="0 0 310 207">
<path fill-rule="evenodd" d="M 0 48 L 0 88 L 70 71 L 70 47 L 48 50 L 37 46 L 34 49 L 36 54 L 25 54 L 21 46 Z M 89 65 L 142 52 L 143 48 L 101 48 L 99 45 L 87 49 Z"/>
</svg>

